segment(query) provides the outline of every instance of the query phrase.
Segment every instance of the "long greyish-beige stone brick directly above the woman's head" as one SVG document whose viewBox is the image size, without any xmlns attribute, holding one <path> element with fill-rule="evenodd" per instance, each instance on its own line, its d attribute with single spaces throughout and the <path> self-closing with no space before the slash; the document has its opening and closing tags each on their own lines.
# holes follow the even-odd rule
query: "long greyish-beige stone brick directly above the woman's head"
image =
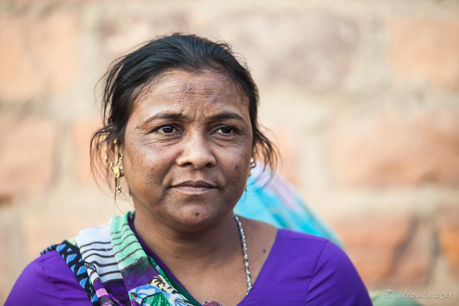
<svg viewBox="0 0 459 306">
<path fill-rule="evenodd" d="M 204 5 L 207 13 L 196 7 L 183 3 L 157 6 L 147 15 L 104 15 L 96 29 L 104 60 L 154 36 L 191 31 L 234 44 L 248 59 L 259 85 L 324 91 L 340 87 L 357 52 L 359 24 L 349 16 L 299 6 Z"/>
</svg>

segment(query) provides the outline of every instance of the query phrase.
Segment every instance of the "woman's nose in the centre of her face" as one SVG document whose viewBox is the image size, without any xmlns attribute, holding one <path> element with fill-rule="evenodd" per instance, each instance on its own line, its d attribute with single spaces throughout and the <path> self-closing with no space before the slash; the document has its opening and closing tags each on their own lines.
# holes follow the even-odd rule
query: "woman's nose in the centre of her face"
<svg viewBox="0 0 459 306">
<path fill-rule="evenodd" d="M 191 165 L 195 169 L 216 165 L 216 157 L 209 143 L 201 135 L 188 135 L 181 141 L 182 151 L 176 159 L 179 166 Z"/>
</svg>

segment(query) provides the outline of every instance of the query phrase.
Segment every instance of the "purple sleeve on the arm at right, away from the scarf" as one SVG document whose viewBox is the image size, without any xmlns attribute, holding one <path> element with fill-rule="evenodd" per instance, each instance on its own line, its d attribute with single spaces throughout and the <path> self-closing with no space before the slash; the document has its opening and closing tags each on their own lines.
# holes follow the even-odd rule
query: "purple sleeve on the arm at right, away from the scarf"
<svg viewBox="0 0 459 306">
<path fill-rule="evenodd" d="M 326 243 L 317 260 L 306 305 L 372 305 L 356 268 L 333 243 Z"/>
</svg>

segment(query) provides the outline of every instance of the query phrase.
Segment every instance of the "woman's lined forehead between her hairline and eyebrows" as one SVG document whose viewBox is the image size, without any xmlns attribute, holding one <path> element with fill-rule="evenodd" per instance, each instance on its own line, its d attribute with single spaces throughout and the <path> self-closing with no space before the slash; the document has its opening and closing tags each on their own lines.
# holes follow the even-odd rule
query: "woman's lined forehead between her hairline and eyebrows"
<svg viewBox="0 0 459 306">
<path fill-rule="evenodd" d="M 203 103 L 204 102 L 204 103 Z M 146 106 L 218 106 L 248 108 L 248 98 L 234 81 L 222 73 L 172 70 L 146 86 L 135 101 L 135 109 Z"/>
</svg>

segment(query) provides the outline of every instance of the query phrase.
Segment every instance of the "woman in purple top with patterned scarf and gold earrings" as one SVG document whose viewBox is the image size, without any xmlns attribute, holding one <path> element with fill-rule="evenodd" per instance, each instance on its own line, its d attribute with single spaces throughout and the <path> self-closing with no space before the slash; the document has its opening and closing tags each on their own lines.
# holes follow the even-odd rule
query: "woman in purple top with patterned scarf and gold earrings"
<svg viewBox="0 0 459 306">
<path fill-rule="evenodd" d="M 255 159 L 276 160 L 257 103 L 223 43 L 174 34 L 119 59 L 91 147 L 135 213 L 51 247 L 6 305 L 370 305 L 333 243 L 233 214 Z"/>
</svg>

